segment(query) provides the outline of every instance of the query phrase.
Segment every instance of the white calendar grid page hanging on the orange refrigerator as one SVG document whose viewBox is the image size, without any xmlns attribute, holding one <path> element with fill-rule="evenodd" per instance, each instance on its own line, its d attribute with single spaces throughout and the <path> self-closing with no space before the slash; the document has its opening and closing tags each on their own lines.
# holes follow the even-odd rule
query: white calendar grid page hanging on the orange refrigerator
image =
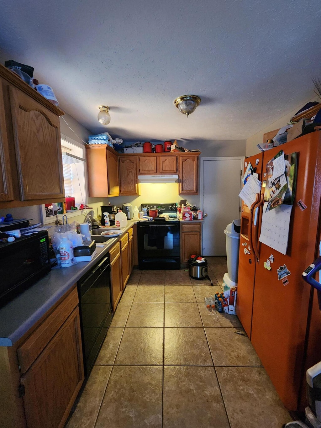
<svg viewBox="0 0 321 428">
<path fill-rule="evenodd" d="M 265 202 L 259 241 L 286 254 L 292 205 L 280 205 L 270 211 L 266 211 L 267 206 L 268 202 Z"/>
</svg>

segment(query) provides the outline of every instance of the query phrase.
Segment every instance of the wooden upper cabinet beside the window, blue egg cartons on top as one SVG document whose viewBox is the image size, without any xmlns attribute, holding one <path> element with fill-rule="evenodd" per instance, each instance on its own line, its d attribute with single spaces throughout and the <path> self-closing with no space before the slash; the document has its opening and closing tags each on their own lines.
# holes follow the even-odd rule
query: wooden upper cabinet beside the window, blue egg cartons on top
<svg viewBox="0 0 321 428">
<path fill-rule="evenodd" d="M 89 196 L 119 196 L 118 155 L 106 145 L 86 146 Z"/>
</svg>

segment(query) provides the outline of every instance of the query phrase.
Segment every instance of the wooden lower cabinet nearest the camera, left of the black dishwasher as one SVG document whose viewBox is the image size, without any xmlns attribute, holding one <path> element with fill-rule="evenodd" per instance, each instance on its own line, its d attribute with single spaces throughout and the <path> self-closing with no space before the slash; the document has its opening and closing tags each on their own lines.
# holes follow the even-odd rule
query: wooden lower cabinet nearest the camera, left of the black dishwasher
<svg viewBox="0 0 321 428">
<path fill-rule="evenodd" d="M 62 428 L 84 380 L 77 287 L 0 348 L 0 426 Z"/>
</svg>

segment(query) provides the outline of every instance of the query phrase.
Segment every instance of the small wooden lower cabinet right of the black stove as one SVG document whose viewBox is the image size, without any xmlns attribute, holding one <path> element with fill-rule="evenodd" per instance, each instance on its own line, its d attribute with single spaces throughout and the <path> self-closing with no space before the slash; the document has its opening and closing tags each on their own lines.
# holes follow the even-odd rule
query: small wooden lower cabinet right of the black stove
<svg viewBox="0 0 321 428">
<path fill-rule="evenodd" d="M 181 223 L 181 263 L 202 254 L 202 223 Z"/>
</svg>

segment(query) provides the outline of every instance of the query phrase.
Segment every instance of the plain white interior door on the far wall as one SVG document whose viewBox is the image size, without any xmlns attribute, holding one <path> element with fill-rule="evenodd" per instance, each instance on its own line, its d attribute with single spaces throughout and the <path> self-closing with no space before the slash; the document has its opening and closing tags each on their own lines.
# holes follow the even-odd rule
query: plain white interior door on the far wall
<svg viewBox="0 0 321 428">
<path fill-rule="evenodd" d="M 201 158 L 202 255 L 226 256 L 224 229 L 240 218 L 244 158 Z"/>
</svg>

